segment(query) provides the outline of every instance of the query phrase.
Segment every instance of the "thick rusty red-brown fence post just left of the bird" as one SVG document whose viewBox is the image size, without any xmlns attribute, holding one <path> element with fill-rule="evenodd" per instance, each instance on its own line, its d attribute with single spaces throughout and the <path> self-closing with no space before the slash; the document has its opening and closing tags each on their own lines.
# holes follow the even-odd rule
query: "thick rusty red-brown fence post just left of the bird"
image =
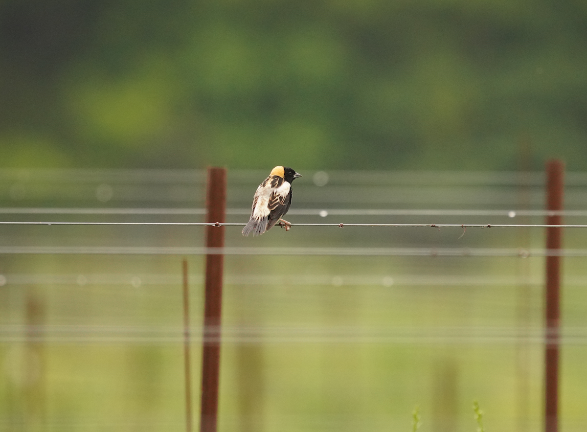
<svg viewBox="0 0 587 432">
<path fill-rule="evenodd" d="M 206 222 L 224 222 L 226 215 L 226 169 L 208 168 Z M 206 246 L 224 247 L 224 227 L 206 227 Z M 202 350 L 201 432 L 216 432 L 218 384 L 220 382 L 220 335 L 222 269 L 224 255 L 206 255 L 204 335 Z"/>
</svg>

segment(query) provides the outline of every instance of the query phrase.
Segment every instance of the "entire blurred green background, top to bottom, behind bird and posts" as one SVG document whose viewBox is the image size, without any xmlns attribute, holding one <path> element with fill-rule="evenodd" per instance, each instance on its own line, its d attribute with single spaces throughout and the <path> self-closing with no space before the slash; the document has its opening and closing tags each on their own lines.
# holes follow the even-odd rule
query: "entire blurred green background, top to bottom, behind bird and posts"
<svg viewBox="0 0 587 432">
<path fill-rule="evenodd" d="M 540 223 L 508 211 L 544 208 L 549 157 L 582 211 L 586 23 L 579 0 L 0 0 L 0 218 L 201 221 L 218 165 L 246 222 L 285 164 L 304 176 L 291 222 Z M 232 227 L 227 245 L 544 245 L 461 234 Z M 0 430 L 184 430 L 181 255 L 13 252 L 201 245 L 201 228 L 0 227 Z M 543 261 L 227 257 L 219 430 L 409 431 L 419 404 L 421 432 L 465 432 L 474 399 L 487 430 L 541 430 Z M 585 258 L 563 269 L 561 430 L 582 432 Z"/>
</svg>

